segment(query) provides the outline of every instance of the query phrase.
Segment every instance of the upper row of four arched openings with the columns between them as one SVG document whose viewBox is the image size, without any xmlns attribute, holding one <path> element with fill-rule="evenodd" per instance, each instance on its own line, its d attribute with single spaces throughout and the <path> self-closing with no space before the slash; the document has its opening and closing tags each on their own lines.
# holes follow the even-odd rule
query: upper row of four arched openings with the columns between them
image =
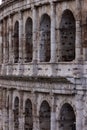
<svg viewBox="0 0 87 130">
<path fill-rule="evenodd" d="M 47 13 L 40 17 L 38 28 L 35 26 L 37 23 L 35 19 L 28 16 L 23 23 L 22 17 L 20 16 L 19 20 L 16 19 L 13 26 L 11 18 L 11 25 L 9 23 L 7 25 L 5 22 L 1 23 L 1 59 L 3 61 L 5 60 L 5 55 L 8 55 L 7 62 L 10 60 L 10 55 L 13 56 L 13 63 L 19 63 L 21 60 L 24 63 L 33 62 L 33 60 L 38 62 L 51 62 L 54 59 L 56 59 L 54 62 L 71 62 L 75 60 L 76 21 L 72 11 L 69 9 L 63 11 L 58 30 L 54 26 L 55 21 Z M 4 21 L 7 21 L 7 19 Z M 9 26 L 11 29 L 7 29 Z M 56 39 L 57 37 L 59 43 Z"/>
</svg>

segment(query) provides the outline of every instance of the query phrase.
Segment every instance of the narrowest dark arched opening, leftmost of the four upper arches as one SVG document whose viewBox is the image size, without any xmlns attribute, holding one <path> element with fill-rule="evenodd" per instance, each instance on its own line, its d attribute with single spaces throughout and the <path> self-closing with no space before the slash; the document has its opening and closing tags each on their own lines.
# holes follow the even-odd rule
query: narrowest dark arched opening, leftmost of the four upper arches
<svg viewBox="0 0 87 130">
<path fill-rule="evenodd" d="M 19 59 L 19 22 L 16 21 L 14 26 L 14 63 Z"/>
</svg>

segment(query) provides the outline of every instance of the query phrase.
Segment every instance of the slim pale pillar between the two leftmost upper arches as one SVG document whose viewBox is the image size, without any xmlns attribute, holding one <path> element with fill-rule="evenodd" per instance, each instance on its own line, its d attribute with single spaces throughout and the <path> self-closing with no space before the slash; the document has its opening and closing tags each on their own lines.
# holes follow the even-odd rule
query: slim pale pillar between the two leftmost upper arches
<svg viewBox="0 0 87 130">
<path fill-rule="evenodd" d="M 23 62 L 23 16 L 19 11 L 19 63 Z"/>
</svg>

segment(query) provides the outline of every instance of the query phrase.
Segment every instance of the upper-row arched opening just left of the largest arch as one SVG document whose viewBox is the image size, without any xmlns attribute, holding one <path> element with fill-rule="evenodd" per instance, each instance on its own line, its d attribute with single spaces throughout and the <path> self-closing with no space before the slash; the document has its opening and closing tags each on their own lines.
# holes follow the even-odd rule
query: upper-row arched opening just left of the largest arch
<svg viewBox="0 0 87 130">
<path fill-rule="evenodd" d="M 40 61 L 49 62 L 51 57 L 50 46 L 50 16 L 47 14 L 42 15 L 40 21 Z"/>
</svg>

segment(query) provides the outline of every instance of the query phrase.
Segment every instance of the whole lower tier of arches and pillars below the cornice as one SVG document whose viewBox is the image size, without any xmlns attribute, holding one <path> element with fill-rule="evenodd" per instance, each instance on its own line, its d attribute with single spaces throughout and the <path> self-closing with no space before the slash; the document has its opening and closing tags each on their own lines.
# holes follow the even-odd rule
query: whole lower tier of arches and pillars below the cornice
<svg viewBox="0 0 87 130">
<path fill-rule="evenodd" d="M 0 90 L 0 130 L 83 130 L 86 126 L 85 103 L 79 94 Z"/>
</svg>

